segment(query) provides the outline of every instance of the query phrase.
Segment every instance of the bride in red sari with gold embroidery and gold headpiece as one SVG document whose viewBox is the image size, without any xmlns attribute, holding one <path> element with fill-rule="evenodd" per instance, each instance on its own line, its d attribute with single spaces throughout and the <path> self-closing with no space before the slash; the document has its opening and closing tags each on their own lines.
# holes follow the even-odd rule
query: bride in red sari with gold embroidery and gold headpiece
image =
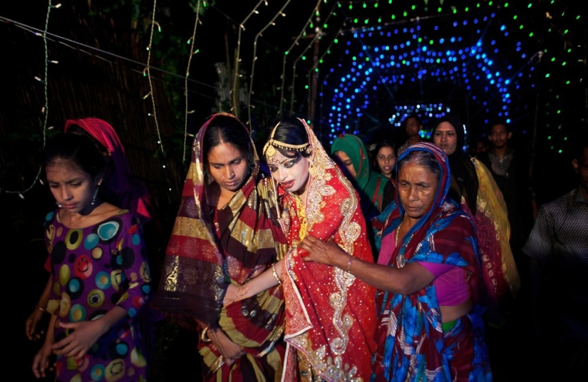
<svg viewBox="0 0 588 382">
<path fill-rule="evenodd" d="M 264 146 L 277 187 L 288 252 L 267 272 L 229 286 L 225 304 L 282 284 L 287 356 L 282 381 L 368 381 L 375 350 L 375 289 L 299 249 L 307 236 L 332 239 L 373 262 L 359 196 L 301 119 L 282 119 Z"/>
</svg>

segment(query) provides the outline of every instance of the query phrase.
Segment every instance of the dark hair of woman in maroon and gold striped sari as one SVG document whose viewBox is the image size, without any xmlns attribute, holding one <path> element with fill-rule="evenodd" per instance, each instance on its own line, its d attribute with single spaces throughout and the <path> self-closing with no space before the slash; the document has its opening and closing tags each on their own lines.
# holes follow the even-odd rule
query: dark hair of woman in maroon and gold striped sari
<svg viewBox="0 0 588 382">
<path fill-rule="evenodd" d="M 229 143 L 239 150 L 249 164 L 249 171 L 255 166 L 251 138 L 247 128 L 236 118 L 217 115 L 207 126 L 202 142 L 202 156 L 205 169 L 208 167 L 208 153 L 222 143 Z"/>
</svg>

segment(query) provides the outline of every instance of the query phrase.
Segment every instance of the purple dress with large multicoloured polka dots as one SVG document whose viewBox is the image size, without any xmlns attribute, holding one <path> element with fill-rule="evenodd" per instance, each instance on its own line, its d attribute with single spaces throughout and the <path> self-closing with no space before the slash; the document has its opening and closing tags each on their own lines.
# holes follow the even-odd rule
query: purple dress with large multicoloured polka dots
<svg viewBox="0 0 588 382">
<path fill-rule="evenodd" d="M 138 218 L 122 210 L 77 229 L 51 212 L 45 234 L 52 275 L 47 310 L 57 316 L 56 342 L 71 330 L 58 327 L 59 322 L 98 319 L 115 306 L 128 313 L 80 360 L 59 357 L 58 381 L 146 380 L 147 363 L 133 320 L 150 295 L 151 281 Z"/>
</svg>

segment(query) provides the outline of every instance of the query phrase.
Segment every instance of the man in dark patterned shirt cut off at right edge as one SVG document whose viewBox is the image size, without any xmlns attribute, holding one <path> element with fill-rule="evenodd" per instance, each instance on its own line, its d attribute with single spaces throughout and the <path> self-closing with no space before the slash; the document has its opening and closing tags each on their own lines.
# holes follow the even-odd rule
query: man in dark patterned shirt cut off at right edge
<svg viewBox="0 0 588 382">
<path fill-rule="evenodd" d="M 584 375 L 588 365 L 588 139 L 578 146 L 578 187 L 539 208 L 522 248 L 531 258 L 537 355 L 545 357 L 538 365 L 562 381 Z"/>
</svg>

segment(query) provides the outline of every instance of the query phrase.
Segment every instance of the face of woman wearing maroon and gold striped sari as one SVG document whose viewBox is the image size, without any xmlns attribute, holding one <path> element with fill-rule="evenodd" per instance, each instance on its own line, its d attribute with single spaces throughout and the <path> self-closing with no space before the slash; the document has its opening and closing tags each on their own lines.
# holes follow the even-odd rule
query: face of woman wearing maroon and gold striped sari
<svg viewBox="0 0 588 382">
<path fill-rule="evenodd" d="M 208 171 L 224 190 L 236 192 L 247 180 L 247 159 L 229 143 L 221 143 L 208 152 Z"/>
</svg>

